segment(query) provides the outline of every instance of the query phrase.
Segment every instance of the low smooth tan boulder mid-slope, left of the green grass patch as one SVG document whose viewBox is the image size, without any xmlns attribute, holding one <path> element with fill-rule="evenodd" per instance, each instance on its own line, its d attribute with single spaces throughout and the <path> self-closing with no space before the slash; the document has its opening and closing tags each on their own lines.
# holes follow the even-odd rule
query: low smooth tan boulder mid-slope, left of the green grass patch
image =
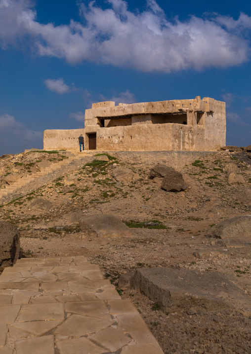
<svg viewBox="0 0 251 354">
<path fill-rule="evenodd" d="M 94 237 L 132 237 L 130 229 L 117 216 L 112 214 L 93 214 L 80 220 L 81 231 Z"/>
</svg>

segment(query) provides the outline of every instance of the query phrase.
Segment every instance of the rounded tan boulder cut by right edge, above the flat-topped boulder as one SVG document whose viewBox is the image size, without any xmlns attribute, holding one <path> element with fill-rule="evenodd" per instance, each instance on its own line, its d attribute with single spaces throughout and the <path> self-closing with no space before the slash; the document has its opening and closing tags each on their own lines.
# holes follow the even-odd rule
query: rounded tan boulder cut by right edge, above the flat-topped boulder
<svg viewBox="0 0 251 354">
<path fill-rule="evenodd" d="M 236 216 L 212 226 L 207 237 L 216 239 L 246 240 L 251 243 L 251 215 Z"/>
</svg>

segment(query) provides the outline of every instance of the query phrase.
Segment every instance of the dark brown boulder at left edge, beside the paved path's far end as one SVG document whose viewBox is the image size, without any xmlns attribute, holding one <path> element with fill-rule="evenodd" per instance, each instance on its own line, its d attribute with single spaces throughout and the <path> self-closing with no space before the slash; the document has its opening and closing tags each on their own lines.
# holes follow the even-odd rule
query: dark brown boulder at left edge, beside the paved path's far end
<svg viewBox="0 0 251 354">
<path fill-rule="evenodd" d="M 20 235 L 16 226 L 0 221 L 0 272 L 16 262 L 19 252 Z"/>
</svg>

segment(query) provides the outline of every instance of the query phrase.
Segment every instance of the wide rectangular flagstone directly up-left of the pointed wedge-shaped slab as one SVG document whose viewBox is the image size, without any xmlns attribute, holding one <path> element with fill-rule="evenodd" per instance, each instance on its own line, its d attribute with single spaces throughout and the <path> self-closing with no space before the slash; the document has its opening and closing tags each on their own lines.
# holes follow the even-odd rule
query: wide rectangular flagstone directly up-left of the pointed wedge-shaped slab
<svg viewBox="0 0 251 354">
<path fill-rule="evenodd" d="M 22 305 L 19 322 L 64 319 L 64 305 L 56 303 Z"/>
</svg>

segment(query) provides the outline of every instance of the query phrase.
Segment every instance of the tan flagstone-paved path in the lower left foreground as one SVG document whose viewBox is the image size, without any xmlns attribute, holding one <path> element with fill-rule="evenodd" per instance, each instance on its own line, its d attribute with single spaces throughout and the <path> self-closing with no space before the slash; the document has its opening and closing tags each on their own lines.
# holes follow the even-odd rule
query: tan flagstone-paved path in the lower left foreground
<svg viewBox="0 0 251 354">
<path fill-rule="evenodd" d="M 21 258 L 0 276 L 0 354 L 163 354 L 84 256 Z"/>
</svg>

